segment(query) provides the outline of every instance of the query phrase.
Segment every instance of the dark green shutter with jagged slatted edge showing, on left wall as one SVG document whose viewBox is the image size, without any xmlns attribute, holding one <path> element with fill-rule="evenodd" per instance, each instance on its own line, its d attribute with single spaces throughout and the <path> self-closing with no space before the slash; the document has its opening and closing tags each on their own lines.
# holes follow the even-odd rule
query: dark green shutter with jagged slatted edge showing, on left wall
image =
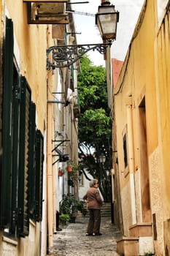
<svg viewBox="0 0 170 256">
<path fill-rule="evenodd" d="M 20 94 L 20 149 L 18 176 L 18 236 L 28 236 L 28 149 L 29 149 L 29 111 L 31 90 L 26 78 L 21 77 Z"/>
</svg>

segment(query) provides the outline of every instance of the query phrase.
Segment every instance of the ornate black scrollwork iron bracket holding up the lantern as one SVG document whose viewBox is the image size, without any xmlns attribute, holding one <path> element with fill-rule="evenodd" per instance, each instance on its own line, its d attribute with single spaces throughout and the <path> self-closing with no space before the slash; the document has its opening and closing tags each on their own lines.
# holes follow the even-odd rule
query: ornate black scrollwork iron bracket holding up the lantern
<svg viewBox="0 0 170 256">
<path fill-rule="evenodd" d="M 89 50 L 98 50 L 104 54 L 107 48 L 112 45 L 111 42 L 97 45 L 55 45 L 47 49 L 47 70 L 56 67 L 69 67 L 80 59 Z"/>
</svg>

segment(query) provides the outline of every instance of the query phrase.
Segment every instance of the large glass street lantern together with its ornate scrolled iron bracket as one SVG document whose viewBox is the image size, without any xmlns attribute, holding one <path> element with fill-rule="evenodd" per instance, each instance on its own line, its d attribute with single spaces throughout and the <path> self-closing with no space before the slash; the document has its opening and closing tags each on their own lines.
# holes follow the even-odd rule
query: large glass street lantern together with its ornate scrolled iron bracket
<svg viewBox="0 0 170 256">
<path fill-rule="evenodd" d="M 104 39 L 103 44 L 90 45 L 55 45 L 47 49 L 47 70 L 56 67 L 69 67 L 80 59 L 89 50 L 98 50 L 99 53 L 105 54 L 107 48 L 112 45 L 116 38 L 117 22 L 119 12 L 115 12 L 115 6 L 110 5 L 109 1 L 104 1 L 98 7 L 96 14 L 96 25 Z"/>
</svg>

